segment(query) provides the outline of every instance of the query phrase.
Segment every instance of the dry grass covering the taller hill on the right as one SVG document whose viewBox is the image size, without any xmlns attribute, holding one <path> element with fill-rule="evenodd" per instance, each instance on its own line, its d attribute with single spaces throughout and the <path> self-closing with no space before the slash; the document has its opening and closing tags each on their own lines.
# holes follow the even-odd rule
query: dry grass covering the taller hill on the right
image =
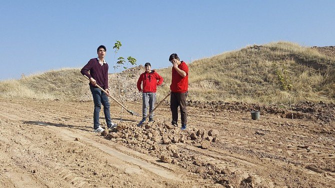
<svg viewBox="0 0 335 188">
<path fill-rule="evenodd" d="M 273 63 L 284 63 L 292 90 L 284 91 Z M 189 99 L 262 103 L 335 100 L 335 59 L 291 42 L 252 45 L 193 61 Z M 171 67 L 158 71 L 170 82 Z M 168 89 L 166 85 L 164 90 Z"/>
</svg>

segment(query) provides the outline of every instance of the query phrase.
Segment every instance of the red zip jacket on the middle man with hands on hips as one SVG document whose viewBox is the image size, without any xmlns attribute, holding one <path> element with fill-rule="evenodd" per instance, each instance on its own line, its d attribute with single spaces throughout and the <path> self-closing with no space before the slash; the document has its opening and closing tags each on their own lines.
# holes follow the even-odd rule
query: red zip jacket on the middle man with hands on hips
<svg viewBox="0 0 335 188">
<path fill-rule="evenodd" d="M 143 82 L 142 92 L 156 92 L 157 85 L 160 85 L 163 80 L 163 77 L 154 70 L 151 70 L 149 73 L 143 72 L 137 80 L 137 89 L 138 91 L 141 90 L 141 82 Z"/>
</svg>

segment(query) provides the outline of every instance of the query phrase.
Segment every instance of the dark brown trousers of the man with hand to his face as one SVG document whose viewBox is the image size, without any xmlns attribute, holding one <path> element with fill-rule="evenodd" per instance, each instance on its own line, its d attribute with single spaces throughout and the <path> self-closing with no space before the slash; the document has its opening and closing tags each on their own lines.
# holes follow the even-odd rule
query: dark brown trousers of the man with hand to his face
<svg viewBox="0 0 335 188">
<path fill-rule="evenodd" d="M 187 123 L 186 97 L 187 97 L 187 91 L 183 93 L 171 91 L 170 108 L 172 112 L 172 121 L 171 121 L 172 124 L 177 124 L 178 106 L 180 108 L 181 124 Z"/>
</svg>

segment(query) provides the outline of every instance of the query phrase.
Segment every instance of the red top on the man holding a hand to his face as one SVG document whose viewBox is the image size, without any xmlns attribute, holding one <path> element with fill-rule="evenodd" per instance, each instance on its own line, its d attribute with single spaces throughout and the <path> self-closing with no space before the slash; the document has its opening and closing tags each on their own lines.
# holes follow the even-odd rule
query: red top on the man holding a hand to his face
<svg viewBox="0 0 335 188">
<path fill-rule="evenodd" d="M 182 77 L 172 66 L 172 80 L 170 89 L 172 92 L 184 93 L 188 90 L 188 66 L 184 61 L 178 65 L 178 68 L 186 72 L 186 76 Z"/>
</svg>

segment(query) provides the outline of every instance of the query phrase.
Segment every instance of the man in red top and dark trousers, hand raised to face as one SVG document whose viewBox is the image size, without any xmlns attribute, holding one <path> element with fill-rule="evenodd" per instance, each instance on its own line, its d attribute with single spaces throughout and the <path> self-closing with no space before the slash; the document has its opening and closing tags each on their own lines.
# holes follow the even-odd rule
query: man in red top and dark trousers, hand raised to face
<svg viewBox="0 0 335 188">
<path fill-rule="evenodd" d="M 181 130 L 186 129 L 187 110 L 186 96 L 188 92 L 188 66 L 180 61 L 176 53 L 172 53 L 168 60 L 172 63 L 172 80 L 170 85 L 170 108 L 173 126 L 177 126 L 178 106 L 180 107 Z"/>
</svg>

